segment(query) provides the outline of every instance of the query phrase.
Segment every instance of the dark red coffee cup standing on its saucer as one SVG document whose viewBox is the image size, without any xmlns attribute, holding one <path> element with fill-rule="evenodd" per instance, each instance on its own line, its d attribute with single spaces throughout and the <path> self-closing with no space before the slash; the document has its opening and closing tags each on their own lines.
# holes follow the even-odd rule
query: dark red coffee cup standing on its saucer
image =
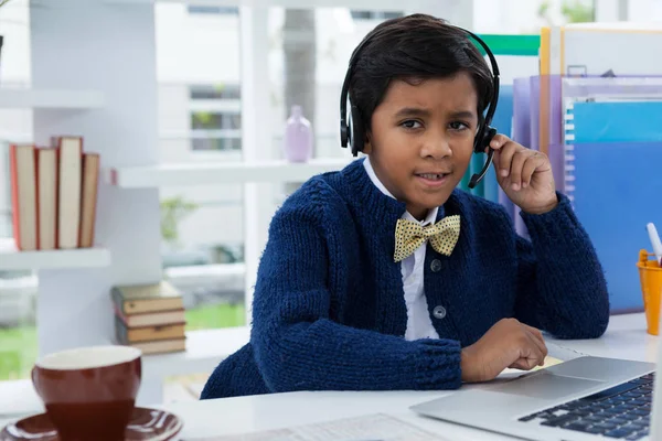
<svg viewBox="0 0 662 441">
<path fill-rule="evenodd" d="M 46 355 L 32 383 L 63 441 L 120 441 L 141 380 L 140 349 L 93 346 Z"/>
</svg>

